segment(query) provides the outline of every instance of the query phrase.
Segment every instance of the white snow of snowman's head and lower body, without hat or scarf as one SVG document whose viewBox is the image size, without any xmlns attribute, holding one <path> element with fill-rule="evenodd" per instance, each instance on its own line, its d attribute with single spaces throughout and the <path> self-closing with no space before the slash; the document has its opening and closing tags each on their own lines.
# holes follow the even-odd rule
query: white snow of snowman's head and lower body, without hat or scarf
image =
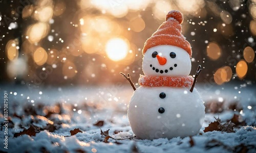
<svg viewBox="0 0 256 153">
<path fill-rule="evenodd" d="M 156 52 L 161 56 L 156 58 Z M 175 57 L 170 57 L 170 53 L 175 53 Z M 165 58 L 166 62 L 160 63 L 159 57 Z M 146 76 L 188 77 L 191 61 L 180 47 L 158 45 L 147 50 L 142 69 Z M 160 97 L 160 93 L 165 96 Z M 202 127 L 204 115 L 205 107 L 198 91 L 190 92 L 187 87 L 140 86 L 134 91 L 128 108 L 130 125 L 139 139 L 196 135 Z"/>
</svg>

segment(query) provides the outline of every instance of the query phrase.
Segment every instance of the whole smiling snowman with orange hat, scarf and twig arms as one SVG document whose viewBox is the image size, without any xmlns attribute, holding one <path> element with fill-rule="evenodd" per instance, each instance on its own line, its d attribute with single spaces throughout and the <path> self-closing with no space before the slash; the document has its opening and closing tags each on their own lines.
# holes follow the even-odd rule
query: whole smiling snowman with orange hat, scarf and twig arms
<svg viewBox="0 0 256 153">
<path fill-rule="evenodd" d="M 198 134 L 205 115 L 203 100 L 194 88 L 201 72 L 189 76 L 192 50 L 181 34 L 183 15 L 170 11 L 158 30 L 146 40 L 139 88 L 128 106 L 128 118 L 138 139 L 187 137 Z"/>
</svg>

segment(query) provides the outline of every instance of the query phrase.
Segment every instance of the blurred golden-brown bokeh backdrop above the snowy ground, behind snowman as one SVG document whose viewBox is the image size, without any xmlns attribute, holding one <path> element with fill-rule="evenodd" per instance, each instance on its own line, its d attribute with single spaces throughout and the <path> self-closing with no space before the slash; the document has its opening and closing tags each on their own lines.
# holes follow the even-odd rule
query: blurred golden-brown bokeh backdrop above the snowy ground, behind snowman
<svg viewBox="0 0 256 153">
<path fill-rule="evenodd" d="M 256 80 L 256 1 L 0 1 L 0 83 L 45 85 L 137 83 L 144 42 L 170 10 L 184 15 L 191 75 L 201 83 Z M 138 84 L 136 84 L 138 86 Z"/>
</svg>

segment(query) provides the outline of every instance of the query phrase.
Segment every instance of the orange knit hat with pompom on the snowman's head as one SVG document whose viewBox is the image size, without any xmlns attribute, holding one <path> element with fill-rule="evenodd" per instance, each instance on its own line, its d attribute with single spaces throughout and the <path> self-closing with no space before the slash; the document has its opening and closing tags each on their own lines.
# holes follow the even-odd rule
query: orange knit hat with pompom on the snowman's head
<svg viewBox="0 0 256 153">
<path fill-rule="evenodd" d="M 160 25 L 157 31 L 146 40 L 142 49 L 142 54 L 144 55 L 148 48 L 157 45 L 173 45 L 186 50 L 191 58 L 192 50 L 190 43 L 181 34 L 182 22 L 183 15 L 180 11 L 170 11 L 166 15 L 165 21 Z"/>
</svg>

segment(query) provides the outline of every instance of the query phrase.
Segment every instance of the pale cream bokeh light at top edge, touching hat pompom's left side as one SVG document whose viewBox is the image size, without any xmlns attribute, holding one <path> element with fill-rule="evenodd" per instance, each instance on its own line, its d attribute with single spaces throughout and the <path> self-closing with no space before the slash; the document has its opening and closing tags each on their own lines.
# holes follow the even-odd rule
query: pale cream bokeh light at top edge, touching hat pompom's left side
<svg viewBox="0 0 256 153">
<path fill-rule="evenodd" d="M 154 17 L 157 19 L 165 19 L 166 14 L 172 10 L 172 5 L 168 1 L 157 1 L 155 6 L 153 7 Z"/>
</svg>

